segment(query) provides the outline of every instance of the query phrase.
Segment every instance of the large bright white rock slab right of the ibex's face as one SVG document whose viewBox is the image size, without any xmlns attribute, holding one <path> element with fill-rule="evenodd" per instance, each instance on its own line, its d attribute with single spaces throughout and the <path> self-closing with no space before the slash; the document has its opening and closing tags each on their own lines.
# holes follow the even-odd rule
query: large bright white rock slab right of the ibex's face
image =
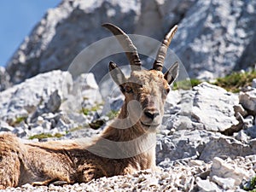
<svg viewBox="0 0 256 192">
<path fill-rule="evenodd" d="M 236 95 L 207 83 L 199 84 L 193 90 L 195 98 L 192 116 L 207 131 L 226 131 L 239 124 L 233 108 L 238 104 Z"/>
</svg>

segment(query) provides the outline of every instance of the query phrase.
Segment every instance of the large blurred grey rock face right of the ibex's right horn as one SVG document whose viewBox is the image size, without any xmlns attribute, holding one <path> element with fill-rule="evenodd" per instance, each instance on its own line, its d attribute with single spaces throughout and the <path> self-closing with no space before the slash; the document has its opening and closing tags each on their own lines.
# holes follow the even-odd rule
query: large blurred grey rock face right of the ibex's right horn
<svg viewBox="0 0 256 192">
<path fill-rule="evenodd" d="M 189 9 L 172 46 L 191 76 L 211 79 L 253 65 L 255 56 L 244 55 L 255 48 L 255 9 L 255 2 L 232 0 L 199 0 Z"/>
</svg>

